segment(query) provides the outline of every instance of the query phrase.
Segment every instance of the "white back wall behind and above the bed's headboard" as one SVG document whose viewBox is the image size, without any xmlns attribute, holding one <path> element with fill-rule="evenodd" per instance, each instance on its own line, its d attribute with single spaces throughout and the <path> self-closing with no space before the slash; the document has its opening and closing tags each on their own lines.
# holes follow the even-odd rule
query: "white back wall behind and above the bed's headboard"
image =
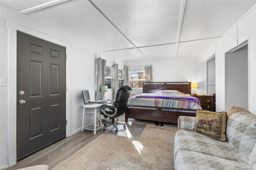
<svg viewBox="0 0 256 170">
<path fill-rule="evenodd" d="M 144 66 L 152 65 L 154 82 L 197 82 L 196 93 L 205 94 L 205 63 L 202 57 L 177 57 L 170 59 L 126 61 L 129 71 L 144 70 Z M 194 91 L 194 90 L 193 90 Z M 133 89 L 131 94 L 141 94 L 142 89 Z"/>
</svg>

